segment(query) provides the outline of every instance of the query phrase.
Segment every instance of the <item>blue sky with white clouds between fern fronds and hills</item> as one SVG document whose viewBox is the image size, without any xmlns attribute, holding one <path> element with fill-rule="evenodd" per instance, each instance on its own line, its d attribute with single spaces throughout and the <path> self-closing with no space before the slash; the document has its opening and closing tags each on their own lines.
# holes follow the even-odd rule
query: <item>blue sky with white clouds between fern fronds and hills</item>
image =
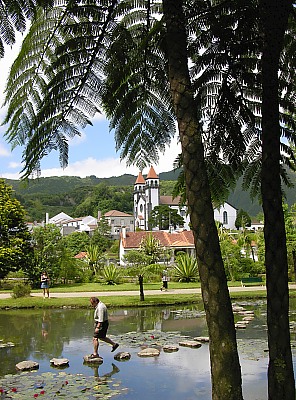
<svg viewBox="0 0 296 400">
<path fill-rule="evenodd" d="M 10 144 L 4 138 L 7 125 L 2 126 L 6 114 L 4 90 L 10 65 L 17 56 L 21 45 L 21 36 L 17 43 L 6 47 L 5 57 L 0 59 L 0 177 L 20 179 L 22 170 L 22 148 L 11 150 Z M 58 152 L 52 152 L 41 162 L 41 177 L 48 176 L 86 176 L 95 175 L 98 178 L 109 178 L 123 174 L 138 175 L 138 168 L 127 167 L 125 161 L 120 161 L 120 153 L 115 151 L 115 141 L 112 132 L 109 132 L 109 122 L 104 115 L 95 117 L 93 126 L 88 126 L 82 135 L 69 142 L 69 165 L 62 169 L 59 164 Z M 175 138 L 164 154 L 160 155 L 157 165 L 153 165 L 156 173 L 171 171 L 173 162 L 181 152 L 180 144 Z M 149 168 L 143 171 L 148 172 Z"/>
</svg>

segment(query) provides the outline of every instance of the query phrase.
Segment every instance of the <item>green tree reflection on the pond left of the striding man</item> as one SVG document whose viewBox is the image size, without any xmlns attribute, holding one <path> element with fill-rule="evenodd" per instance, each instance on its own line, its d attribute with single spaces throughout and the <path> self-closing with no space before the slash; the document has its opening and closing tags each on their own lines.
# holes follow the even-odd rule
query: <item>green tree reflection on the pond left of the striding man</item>
<svg viewBox="0 0 296 400">
<path fill-rule="evenodd" d="M 46 313 L 46 318 L 50 321 L 47 340 L 44 340 L 40 334 L 43 310 L 0 313 L 1 339 L 4 342 L 15 343 L 15 347 L 3 349 L 1 352 L 0 374 L 14 373 L 15 365 L 29 359 L 32 352 L 36 361 L 61 356 L 64 344 L 68 343 L 70 338 L 81 337 L 82 326 L 85 326 L 85 314 L 89 315 L 89 311 L 85 310 L 67 310 L 66 312 L 46 310 Z"/>
</svg>

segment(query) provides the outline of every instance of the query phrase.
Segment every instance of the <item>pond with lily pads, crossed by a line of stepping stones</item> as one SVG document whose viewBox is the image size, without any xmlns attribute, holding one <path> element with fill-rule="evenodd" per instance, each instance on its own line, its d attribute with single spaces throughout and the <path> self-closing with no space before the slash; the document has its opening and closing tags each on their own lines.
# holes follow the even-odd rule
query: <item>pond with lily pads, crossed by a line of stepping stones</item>
<svg viewBox="0 0 296 400">
<path fill-rule="evenodd" d="M 263 301 L 238 304 L 254 311 L 246 329 L 237 330 L 245 400 L 267 398 L 266 305 Z M 198 349 L 178 346 L 167 353 L 164 344 L 207 336 L 202 305 L 109 309 L 109 336 L 120 343 L 115 352 L 129 352 L 128 361 L 114 360 L 111 347 L 102 344 L 104 358 L 99 367 L 86 365 L 92 353 L 93 310 L 7 310 L 0 311 L 0 398 L 42 399 L 112 398 L 129 400 L 210 400 L 208 344 Z M 235 320 L 242 317 L 235 314 Z M 296 304 L 291 305 L 291 339 L 294 370 L 296 363 Z M 12 342 L 13 347 L 5 347 Z M 1 346 L 2 343 L 2 346 Z M 158 357 L 139 357 L 143 346 L 158 347 Z M 50 364 L 52 358 L 67 358 L 63 370 Z M 16 372 L 24 360 L 39 363 L 34 372 Z M 24 378 L 25 377 L 25 378 Z M 21 396 L 22 393 L 26 395 Z M 4 396 L 4 397 L 3 397 Z M 19 397 L 18 397 L 19 396 Z"/>
</svg>

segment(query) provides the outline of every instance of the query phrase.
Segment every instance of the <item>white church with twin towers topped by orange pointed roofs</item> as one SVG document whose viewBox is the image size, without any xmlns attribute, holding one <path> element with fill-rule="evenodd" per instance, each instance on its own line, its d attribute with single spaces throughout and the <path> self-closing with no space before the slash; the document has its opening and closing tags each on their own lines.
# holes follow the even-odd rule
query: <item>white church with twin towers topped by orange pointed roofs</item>
<svg viewBox="0 0 296 400">
<path fill-rule="evenodd" d="M 142 172 L 139 172 L 134 184 L 134 220 L 135 229 L 144 231 L 149 230 L 148 219 L 154 207 L 159 205 L 168 205 L 177 210 L 178 214 L 184 219 L 184 225 L 179 226 L 179 230 L 190 230 L 190 217 L 187 214 L 186 205 L 179 205 L 180 198 L 172 196 L 160 196 L 160 181 L 153 166 L 144 178 Z M 214 209 L 214 218 L 220 222 L 225 229 L 235 229 L 237 209 L 231 204 L 225 202 L 221 207 Z M 157 230 L 157 228 L 154 228 Z"/>
</svg>

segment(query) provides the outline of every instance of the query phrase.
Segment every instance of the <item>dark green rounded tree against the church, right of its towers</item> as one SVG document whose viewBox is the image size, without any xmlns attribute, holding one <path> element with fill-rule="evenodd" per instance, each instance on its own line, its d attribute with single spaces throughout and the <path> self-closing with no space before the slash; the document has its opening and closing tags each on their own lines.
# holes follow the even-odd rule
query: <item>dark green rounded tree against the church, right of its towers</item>
<svg viewBox="0 0 296 400">
<path fill-rule="evenodd" d="M 162 204 L 151 211 L 148 224 L 152 228 L 159 227 L 160 230 L 168 230 L 171 227 L 176 229 L 177 226 L 184 225 L 184 218 L 178 214 L 177 210 Z"/>
</svg>

